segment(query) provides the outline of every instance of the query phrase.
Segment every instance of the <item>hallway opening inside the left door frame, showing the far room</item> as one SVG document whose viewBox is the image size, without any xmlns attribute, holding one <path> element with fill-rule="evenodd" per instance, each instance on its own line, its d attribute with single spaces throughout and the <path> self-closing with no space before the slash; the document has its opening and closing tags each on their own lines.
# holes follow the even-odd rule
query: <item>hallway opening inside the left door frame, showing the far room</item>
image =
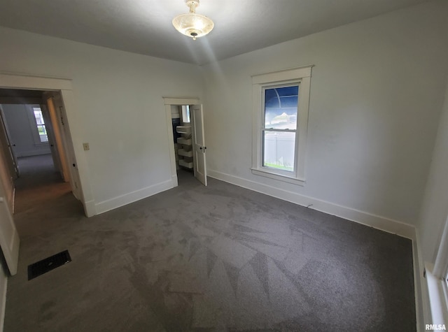
<svg viewBox="0 0 448 332">
<path fill-rule="evenodd" d="M 48 185 L 66 182 L 69 192 L 78 199 L 78 181 L 67 166 L 71 157 L 68 138 L 63 132 L 64 124 L 59 123 L 64 115 L 57 106 L 63 107 L 59 92 L 0 89 L 0 117 L 5 124 L 11 161 L 18 170 L 13 177 L 15 196 L 32 189 L 41 191 L 41 195 L 34 196 L 45 197 Z M 23 200 L 16 200 L 14 214 L 20 203 Z"/>
</svg>

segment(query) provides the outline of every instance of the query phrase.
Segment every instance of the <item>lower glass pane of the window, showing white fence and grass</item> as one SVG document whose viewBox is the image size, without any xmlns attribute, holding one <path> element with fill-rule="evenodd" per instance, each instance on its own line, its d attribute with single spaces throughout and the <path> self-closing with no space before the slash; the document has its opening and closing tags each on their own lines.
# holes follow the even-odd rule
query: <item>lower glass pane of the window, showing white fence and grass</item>
<svg viewBox="0 0 448 332">
<path fill-rule="evenodd" d="M 295 132 L 263 132 L 263 166 L 294 171 Z"/>
</svg>

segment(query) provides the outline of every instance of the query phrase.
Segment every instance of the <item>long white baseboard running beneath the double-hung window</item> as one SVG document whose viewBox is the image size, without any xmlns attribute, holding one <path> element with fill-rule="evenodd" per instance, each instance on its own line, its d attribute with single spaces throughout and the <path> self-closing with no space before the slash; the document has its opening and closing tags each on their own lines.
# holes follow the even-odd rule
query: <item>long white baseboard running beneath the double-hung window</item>
<svg viewBox="0 0 448 332">
<path fill-rule="evenodd" d="M 320 199 L 314 199 L 309 196 L 303 196 L 295 192 L 288 192 L 287 190 L 271 187 L 251 180 L 246 180 L 234 175 L 229 175 L 213 170 L 208 170 L 207 172 L 207 175 L 209 175 L 211 178 L 223 180 L 225 182 L 232 183 L 232 185 L 251 189 L 255 192 L 260 192 L 262 194 L 276 197 L 277 199 L 283 199 L 283 201 L 288 201 L 302 206 L 309 206 L 309 208 L 312 208 L 314 210 L 325 212 L 329 215 L 342 217 L 344 219 L 351 220 L 352 222 L 358 222 L 359 224 L 370 226 L 375 229 L 380 229 L 381 231 L 397 234 L 404 238 L 409 238 L 411 240 L 415 239 L 414 226 L 405 224 L 404 222 L 388 219 L 379 215 L 373 215 L 372 213 L 363 212 L 353 208 L 347 208 L 346 206 L 322 201 Z"/>
</svg>

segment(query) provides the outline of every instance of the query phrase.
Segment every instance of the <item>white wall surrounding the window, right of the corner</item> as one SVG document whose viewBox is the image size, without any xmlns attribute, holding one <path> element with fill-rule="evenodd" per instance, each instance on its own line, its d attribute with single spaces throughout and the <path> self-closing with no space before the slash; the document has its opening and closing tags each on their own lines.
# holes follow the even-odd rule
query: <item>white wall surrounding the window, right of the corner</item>
<svg viewBox="0 0 448 332">
<path fill-rule="evenodd" d="M 415 224 L 448 73 L 447 15 L 446 1 L 424 3 L 204 66 L 211 175 L 351 219 Z M 306 185 L 252 175 L 251 75 L 309 64 Z"/>
</svg>

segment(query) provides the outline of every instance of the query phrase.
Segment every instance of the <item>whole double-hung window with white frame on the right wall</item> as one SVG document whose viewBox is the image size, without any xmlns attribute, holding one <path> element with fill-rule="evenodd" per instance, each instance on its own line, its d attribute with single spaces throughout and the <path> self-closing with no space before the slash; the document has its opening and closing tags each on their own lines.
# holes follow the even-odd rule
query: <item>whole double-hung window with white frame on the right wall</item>
<svg viewBox="0 0 448 332">
<path fill-rule="evenodd" d="M 252 173 L 302 185 L 311 66 L 255 75 Z"/>
</svg>

